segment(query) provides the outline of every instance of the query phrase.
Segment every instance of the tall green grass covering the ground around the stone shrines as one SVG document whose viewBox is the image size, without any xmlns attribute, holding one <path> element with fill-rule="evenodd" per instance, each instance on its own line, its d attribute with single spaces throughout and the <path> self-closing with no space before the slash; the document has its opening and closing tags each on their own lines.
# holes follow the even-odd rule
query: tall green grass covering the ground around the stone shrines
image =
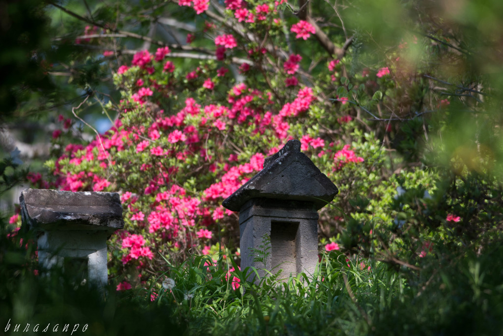
<svg viewBox="0 0 503 336">
<path fill-rule="evenodd" d="M 331 251 L 321 255 L 314 275 L 281 280 L 275 270 L 255 283 L 245 280 L 256 270 L 239 270 L 223 253 L 216 261 L 166 259 L 168 271 L 143 287 L 116 291 L 112 280 L 100 295 L 75 287 L 61 270 L 35 275 L 33 247 L 25 246 L 30 237 L 21 244 L 21 234 L 12 239 L 5 225 L 0 230 L 5 334 L 15 334 L 17 324 L 19 330 L 30 324 L 24 334 L 40 334 L 47 325 L 52 334 L 68 334 L 79 324 L 74 334 L 121 336 L 503 334 L 501 240 L 478 255 L 429 254 L 418 270 Z"/>
</svg>

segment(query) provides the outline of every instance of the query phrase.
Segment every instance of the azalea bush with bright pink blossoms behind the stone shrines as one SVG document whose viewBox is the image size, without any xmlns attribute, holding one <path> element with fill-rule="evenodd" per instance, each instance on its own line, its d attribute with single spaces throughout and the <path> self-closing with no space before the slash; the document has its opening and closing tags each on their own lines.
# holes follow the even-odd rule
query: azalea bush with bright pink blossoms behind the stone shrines
<svg viewBox="0 0 503 336">
<path fill-rule="evenodd" d="M 204 6 L 193 5 L 182 8 L 204 13 Z M 326 97 L 341 85 L 336 76 L 345 60 L 325 55 L 323 64 L 309 70 L 309 55 L 301 50 L 315 28 L 281 19 L 284 11 L 280 3 L 226 3 L 224 17 L 235 19 L 242 32 L 228 23 L 205 22 L 212 59 L 182 66 L 169 46 L 139 51 L 114 74 L 122 100 L 104 107 L 118 112 L 112 129 L 87 145 L 66 145 L 62 133 L 53 135 L 61 153 L 47 164 L 55 186 L 121 193 L 126 226 L 110 244 L 112 275 L 133 265 L 140 277 L 129 275 L 127 281 L 145 281 L 148 270 L 162 269 L 162 256 L 183 260 L 224 246 L 236 252 L 237 215 L 221 201 L 290 139 L 299 139 L 302 151 L 342 190 L 336 207 L 321 214 L 325 238 L 340 232 L 344 216 L 356 212 L 349 186 L 351 196 L 374 193 L 376 199 L 393 189 L 374 190 L 383 160 L 374 133 L 363 132 L 351 115 L 350 93 Z M 285 34 L 298 51 L 279 52 L 288 50 Z M 188 39 L 194 47 L 208 43 Z M 239 72 L 240 79 L 229 71 Z M 380 70 L 373 77 L 387 75 Z M 363 85 L 351 92 L 365 95 Z"/>
</svg>

